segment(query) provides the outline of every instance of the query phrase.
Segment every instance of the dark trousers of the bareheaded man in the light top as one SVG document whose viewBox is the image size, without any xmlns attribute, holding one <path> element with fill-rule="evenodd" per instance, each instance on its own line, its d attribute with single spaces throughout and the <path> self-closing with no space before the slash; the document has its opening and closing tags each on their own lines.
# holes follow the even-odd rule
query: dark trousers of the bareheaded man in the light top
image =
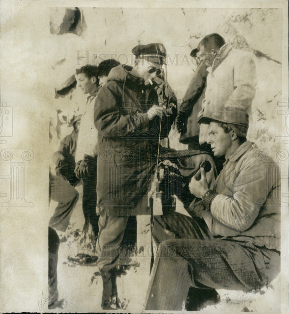
<svg viewBox="0 0 289 314">
<path fill-rule="evenodd" d="M 92 225 L 94 235 L 98 234 L 98 219 L 99 216 L 96 214 L 96 175 L 90 176 L 89 179 L 83 180 L 83 198 L 82 198 L 82 210 L 85 218 L 85 226 L 89 223 Z"/>
</svg>

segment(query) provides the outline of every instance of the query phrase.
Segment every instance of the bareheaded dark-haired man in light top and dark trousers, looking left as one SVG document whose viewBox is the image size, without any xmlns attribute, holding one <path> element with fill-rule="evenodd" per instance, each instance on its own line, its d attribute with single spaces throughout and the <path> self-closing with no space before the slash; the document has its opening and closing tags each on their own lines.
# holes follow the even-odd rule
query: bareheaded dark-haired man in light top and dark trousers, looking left
<svg viewBox="0 0 289 314">
<path fill-rule="evenodd" d="M 89 240 L 88 247 L 91 244 L 93 248 L 95 247 L 98 233 L 98 216 L 96 214 L 97 130 L 93 124 L 94 103 L 98 91 L 97 67 L 88 64 L 77 69 L 76 81 L 82 92 L 89 94 L 82 112 L 75 156 L 75 174 L 82 179 L 83 184 L 82 210 L 85 223 L 80 241 L 86 249 L 87 239 Z"/>
</svg>

